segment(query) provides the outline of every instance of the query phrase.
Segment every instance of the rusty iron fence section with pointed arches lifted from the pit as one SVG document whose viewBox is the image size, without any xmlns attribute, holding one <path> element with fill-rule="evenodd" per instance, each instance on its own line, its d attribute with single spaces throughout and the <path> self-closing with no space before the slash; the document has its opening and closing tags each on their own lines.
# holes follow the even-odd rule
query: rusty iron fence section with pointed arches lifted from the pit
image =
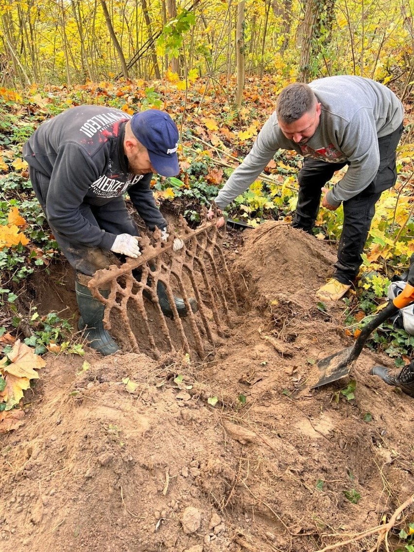
<svg viewBox="0 0 414 552">
<path fill-rule="evenodd" d="M 105 327 L 110 330 L 114 320 L 121 326 L 124 350 L 142 352 L 145 343 L 155 358 L 167 351 L 195 351 L 204 359 L 206 344 L 214 347 L 216 336 L 225 336 L 226 327 L 232 327 L 232 312 L 238 309 L 222 251 L 225 231 L 208 220 L 192 230 L 180 217 L 177 227 L 169 226 L 168 232 L 167 242 L 161 240 L 160 230 L 153 233 L 152 240 L 141 236 L 140 257 L 128 258 L 120 267 L 98 270 L 88 286 L 105 304 Z M 175 237 L 184 242 L 176 252 L 172 247 Z M 171 320 L 161 310 L 158 281 L 165 286 L 173 311 Z M 103 289 L 109 289 L 108 298 L 100 293 Z M 183 319 L 178 316 L 174 295 L 184 301 L 187 316 Z M 192 311 L 191 297 L 197 300 L 198 312 Z M 139 335 L 133 323 L 137 317 Z"/>
</svg>

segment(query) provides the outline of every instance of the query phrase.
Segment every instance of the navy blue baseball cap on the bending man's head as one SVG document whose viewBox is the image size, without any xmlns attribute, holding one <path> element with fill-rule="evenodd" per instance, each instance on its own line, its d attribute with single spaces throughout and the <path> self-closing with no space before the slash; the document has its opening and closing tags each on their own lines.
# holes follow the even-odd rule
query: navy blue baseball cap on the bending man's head
<svg viewBox="0 0 414 552">
<path fill-rule="evenodd" d="M 150 161 L 158 174 L 176 176 L 180 172 L 177 147 L 177 125 L 164 111 L 147 109 L 131 118 L 131 130 L 148 150 Z"/>
</svg>

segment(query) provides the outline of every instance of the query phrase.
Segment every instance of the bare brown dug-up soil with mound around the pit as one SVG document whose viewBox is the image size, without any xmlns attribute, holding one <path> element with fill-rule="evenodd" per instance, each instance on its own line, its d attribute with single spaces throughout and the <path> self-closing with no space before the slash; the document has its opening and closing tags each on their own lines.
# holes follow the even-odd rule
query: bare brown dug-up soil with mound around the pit
<svg viewBox="0 0 414 552">
<path fill-rule="evenodd" d="M 334 251 L 278 222 L 237 247 L 241 307 L 209 362 L 88 349 L 82 371 L 83 358 L 46 355 L 25 425 L 0 438 L 0 552 L 316 551 L 412 495 L 414 404 L 368 373 L 389 359 L 364 350 L 352 401 L 335 400 L 349 378 L 306 389 L 312 363 L 350 344 L 343 304 L 321 312 L 314 298 Z M 75 310 L 71 278 L 36 280 L 40 309 Z"/>
</svg>

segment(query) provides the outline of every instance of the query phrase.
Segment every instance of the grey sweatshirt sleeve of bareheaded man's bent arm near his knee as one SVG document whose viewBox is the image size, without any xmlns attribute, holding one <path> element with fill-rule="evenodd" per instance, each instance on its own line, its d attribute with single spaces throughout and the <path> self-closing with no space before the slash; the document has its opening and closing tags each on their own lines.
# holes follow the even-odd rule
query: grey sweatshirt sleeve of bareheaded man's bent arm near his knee
<svg viewBox="0 0 414 552">
<path fill-rule="evenodd" d="M 327 193 L 328 203 L 335 207 L 367 188 L 378 171 L 378 136 L 370 110 L 360 109 L 355 113 L 344 129 L 339 146 L 349 167 L 341 181 Z"/>
</svg>

